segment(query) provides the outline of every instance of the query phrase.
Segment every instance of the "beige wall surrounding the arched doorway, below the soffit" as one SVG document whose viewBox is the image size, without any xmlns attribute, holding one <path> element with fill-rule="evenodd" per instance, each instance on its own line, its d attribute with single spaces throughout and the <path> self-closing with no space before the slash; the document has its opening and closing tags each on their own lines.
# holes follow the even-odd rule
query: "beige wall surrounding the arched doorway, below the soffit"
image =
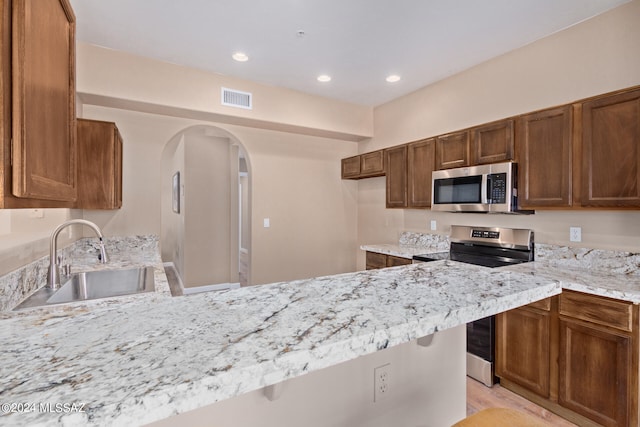
<svg viewBox="0 0 640 427">
<path fill-rule="evenodd" d="M 160 234 L 164 147 L 191 126 L 211 125 L 234 135 L 250 165 L 250 283 L 355 270 L 357 184 L 340 179 L 340 159 L 356 143 L 92 105 L 84 114 L 116 122 L 124 140 L 122 209 L 84 211 L 107 235 Z"/>
</svg>

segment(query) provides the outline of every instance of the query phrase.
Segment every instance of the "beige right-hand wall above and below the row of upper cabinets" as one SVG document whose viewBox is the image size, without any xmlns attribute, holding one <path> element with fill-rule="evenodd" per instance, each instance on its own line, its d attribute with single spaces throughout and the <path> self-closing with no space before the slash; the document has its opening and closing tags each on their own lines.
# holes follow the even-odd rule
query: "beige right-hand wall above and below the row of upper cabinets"
<svg viewBox="0 0 640 427">
<path fill-rule="evenodd" d="M 374 111 L 375 137 L 360 152 L 568 103 L 640 84 L 640 1 L 539 40 L 425 87 Z M 582 227 L 587 247 L 640 251 L 640 213 L 538 212 L 487 216 L 384 209 L 385 179 L 358 184 L 360 243 L 395 241 L 402 230 L 438 233 L 451 224 L 533 228 L 538 242 L 569 244 L 569 226 Z M 576 244 L 572 244 L 576 245 Z M 364 265 L 359 254 L 358 265 Z"/>
</svg>

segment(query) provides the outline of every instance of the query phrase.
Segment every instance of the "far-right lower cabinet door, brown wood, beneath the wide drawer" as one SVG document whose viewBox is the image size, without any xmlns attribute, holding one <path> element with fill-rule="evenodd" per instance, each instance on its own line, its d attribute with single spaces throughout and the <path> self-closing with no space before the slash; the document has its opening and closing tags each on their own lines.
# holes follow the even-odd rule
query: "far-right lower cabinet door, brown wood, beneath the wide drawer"
<svg viewBox="0 0 640 427">
<path fill-rule="evenodd" d="M 631 342 L 627 334 L 561 318 L 559 403 L 605 426 L 631 425 L 630 399 L 638 392 Z"/>
</svg>

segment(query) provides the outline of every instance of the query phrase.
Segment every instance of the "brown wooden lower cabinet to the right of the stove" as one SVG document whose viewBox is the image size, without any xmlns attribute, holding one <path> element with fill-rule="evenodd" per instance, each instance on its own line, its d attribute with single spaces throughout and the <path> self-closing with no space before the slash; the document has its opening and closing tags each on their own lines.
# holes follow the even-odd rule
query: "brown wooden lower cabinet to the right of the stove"
<svg viewBox="0 0 640 427">
<path fill-rule="evenodd" d="M 578 425 L 638 425 L 638 306 L 563 291 L 496 318 L 504 387 Z"/>
</svg>

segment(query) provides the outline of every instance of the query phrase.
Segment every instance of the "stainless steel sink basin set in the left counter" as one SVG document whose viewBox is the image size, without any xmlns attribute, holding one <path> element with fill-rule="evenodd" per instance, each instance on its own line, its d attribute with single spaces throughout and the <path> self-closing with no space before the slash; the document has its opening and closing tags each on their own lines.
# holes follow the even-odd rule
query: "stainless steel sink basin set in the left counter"
<svg viewBox="0 0 640 427">
<path fill-rule="evenodd" d="M 14 310 L 131 295 L 154 290 L 153 267 L 96 270 L 71 275 L 57 291 L 44 287 L 23 301 Z"/>
</svg>

